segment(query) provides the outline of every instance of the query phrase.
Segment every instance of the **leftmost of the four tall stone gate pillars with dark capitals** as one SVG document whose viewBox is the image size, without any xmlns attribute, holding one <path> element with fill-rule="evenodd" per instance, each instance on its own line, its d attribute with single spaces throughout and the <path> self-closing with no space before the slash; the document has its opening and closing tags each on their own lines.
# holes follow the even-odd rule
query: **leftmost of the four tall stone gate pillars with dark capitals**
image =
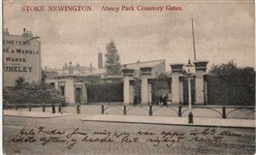
<svg viewBox="0 0 256 155">
<path fill-rule="evenodd" d="M 133 78 L 134 70 L 132 69 L 123 69 L 123 103 L 124 104 L 131 104 L 131 84 L 130 80 Z"/>
</svg>

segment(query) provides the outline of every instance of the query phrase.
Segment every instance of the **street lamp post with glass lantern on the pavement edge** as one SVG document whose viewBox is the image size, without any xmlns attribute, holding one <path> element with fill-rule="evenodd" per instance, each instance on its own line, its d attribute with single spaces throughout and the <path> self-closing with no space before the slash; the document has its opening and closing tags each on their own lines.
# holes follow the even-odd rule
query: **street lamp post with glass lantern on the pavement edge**
<svg viewBox="0 0 256 155">
<path fill-rule="evenodd" d="M 184 66 L 185 74 L 188 81 L 188 108 L 189 108 L 189 114 L 188 114 L 188 123 L 193 123 L 193 113 L 192 113 L 192 103 L 191 103 L 191 78 L 193 77 L 193 74 L 195 72 L 195 67 L 193 64 L 191 64 L 190 59 L 188 60 L 188 63 Z"/>
</svg>

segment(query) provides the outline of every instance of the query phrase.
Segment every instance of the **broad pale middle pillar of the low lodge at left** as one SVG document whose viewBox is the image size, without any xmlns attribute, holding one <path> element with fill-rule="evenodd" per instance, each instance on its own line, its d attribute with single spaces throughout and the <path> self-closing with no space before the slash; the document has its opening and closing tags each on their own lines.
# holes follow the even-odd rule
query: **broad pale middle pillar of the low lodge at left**
<svg viewBox="0 0 256 155">
<path fill-rule="evenodd" d="M 70 105 L 75 104 L 75 87 L 74 87 L 74 79 L 66 79 L 65 83 L 65 97 L 67 103 Z"/>
</svg>

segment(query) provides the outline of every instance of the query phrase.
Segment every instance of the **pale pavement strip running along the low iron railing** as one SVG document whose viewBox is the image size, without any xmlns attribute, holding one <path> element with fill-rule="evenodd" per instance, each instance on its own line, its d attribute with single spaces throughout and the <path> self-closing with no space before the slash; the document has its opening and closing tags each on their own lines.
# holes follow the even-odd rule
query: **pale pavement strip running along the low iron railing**
<svg viewBox="0 0 256 155">
<path fill-rule="evenodd" d="M 76 116 L 80 121 L 112 122 L 112 123 L 136 123 L 155 125 L 179 125 L 179 126 L 204 126 L 204 127 L 230 127 L 230 128 L 256 128 L 255 119 L 230 119 L 230 118 L 201 118 L 194 117 L 193 123 L 188 123 L 187 117 L 170 116 L 140 116 L 117 114 L 76 114 L 76 113 L 51 113 L 40 111 L 4 110 L 5 116 L 54 118 L 64 116 Z"/>
</svg>

